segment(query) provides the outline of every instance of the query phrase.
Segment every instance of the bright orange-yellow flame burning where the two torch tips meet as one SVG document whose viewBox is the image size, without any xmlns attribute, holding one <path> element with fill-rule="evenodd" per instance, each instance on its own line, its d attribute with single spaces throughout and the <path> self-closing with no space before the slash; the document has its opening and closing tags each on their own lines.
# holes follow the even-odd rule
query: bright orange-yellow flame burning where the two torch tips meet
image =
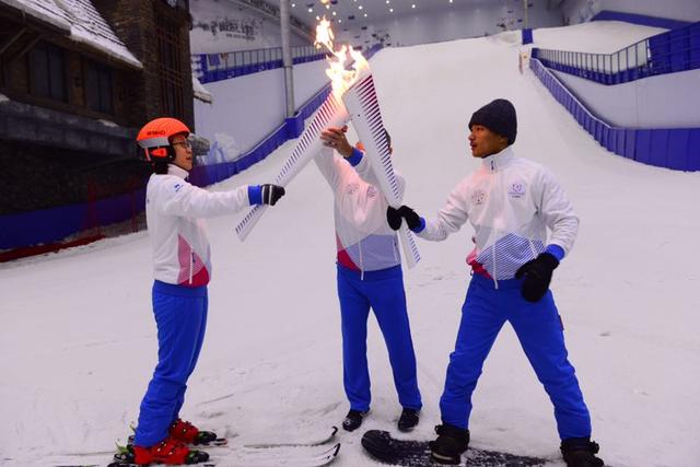
<svg viewBox="0 0 700 467">
<path fill-rule="evenodd" d="M 343 45 L 340 50 L 335 50 L 334 38 L 330 21 L 324 16 L 316 26 L 316 42 L 314 45 L 316 48 L 325 46 L 331 55 L 327 59 L 328 69 L 326 69 L 326 74 L 330 78 L 334 94 L 337 98 L 340 98 L 363 72 L 369 72 L 370 63 L 352 46 Z M 348 69 L 348 66 L 351 68 Z"/>
</svg>

